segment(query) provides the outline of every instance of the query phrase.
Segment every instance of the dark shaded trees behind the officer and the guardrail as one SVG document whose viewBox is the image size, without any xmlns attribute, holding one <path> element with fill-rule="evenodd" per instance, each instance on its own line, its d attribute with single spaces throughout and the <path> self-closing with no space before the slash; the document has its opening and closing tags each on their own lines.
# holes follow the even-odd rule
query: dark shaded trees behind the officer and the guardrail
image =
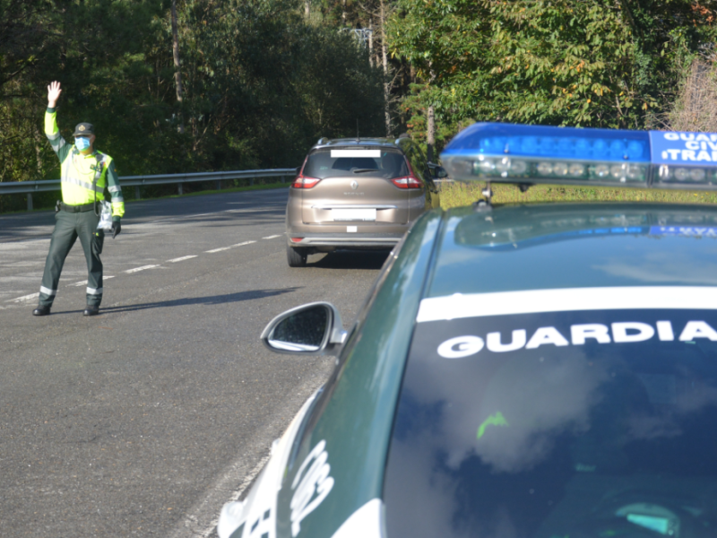
<svg viewBox="0 0 717 538">
<path fill-rule="evenodd" d="M 295 0 L 0 0 L 0 180 L 56 178 L 42 132 L 96 126 L 120 175 L 297 166 L 321 136 L 383 126 L 381 73 L 346 33 L 305 24 Z M 22 38 L 22 39 L 21 39 Z M 183 123 L 185 133 L 177 127 Z"/>
</svg>

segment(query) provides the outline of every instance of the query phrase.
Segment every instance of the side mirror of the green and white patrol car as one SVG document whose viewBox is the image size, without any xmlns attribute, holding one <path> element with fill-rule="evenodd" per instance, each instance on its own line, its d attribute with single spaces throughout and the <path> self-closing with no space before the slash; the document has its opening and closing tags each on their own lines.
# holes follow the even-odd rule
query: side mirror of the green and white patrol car
<svg viewBox="0 0 717 538">
<path fill-rule="evenodd" d="M 314 302 L 274 317 L 262 332 L 262 342 L 277 353 L 336 355 L 346 339 L 341 315 L 333 304 Z"/>
</svg>

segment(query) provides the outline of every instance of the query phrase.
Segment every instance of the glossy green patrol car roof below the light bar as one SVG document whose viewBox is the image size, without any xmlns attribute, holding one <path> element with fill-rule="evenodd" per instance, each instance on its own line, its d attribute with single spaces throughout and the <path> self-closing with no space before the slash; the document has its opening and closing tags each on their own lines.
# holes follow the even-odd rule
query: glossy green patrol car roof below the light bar
<svg viewBox="0 0 717 538">
<path fill-rule="evenodd" d="M 427 297 L 717 285 L 717 208 L 540 204 L 445 213 Z"/>
</svg>

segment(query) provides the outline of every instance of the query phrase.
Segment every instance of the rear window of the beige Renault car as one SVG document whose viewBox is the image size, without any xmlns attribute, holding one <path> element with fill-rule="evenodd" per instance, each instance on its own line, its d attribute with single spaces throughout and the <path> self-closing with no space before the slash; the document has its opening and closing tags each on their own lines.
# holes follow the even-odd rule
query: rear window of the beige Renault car
<svg viewBox="0 0 717 538">
<path fill-rule="evenodd" d="M 367 156 L 368 154 L 375 156 Z M 409 169 L 402 152 L 385 148 L 368 151 L 336 148 L 318 150 L 308 156 L 304 165 L 304 176 L 318 179 L 347 176 L 393 179 L 408 175 Z"/>
</svg>

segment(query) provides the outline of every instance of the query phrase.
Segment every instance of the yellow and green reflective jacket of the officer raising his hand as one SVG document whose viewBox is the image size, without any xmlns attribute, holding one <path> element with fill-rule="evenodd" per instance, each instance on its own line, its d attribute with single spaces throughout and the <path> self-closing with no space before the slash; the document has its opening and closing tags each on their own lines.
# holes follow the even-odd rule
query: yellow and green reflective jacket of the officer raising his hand
<svg viewBox="0 0 717 538">
<path fill-rule="evenodd" d="M 112 197 L 113 220 L 117 221 L 124 216 L 125 199 L 122 197 L 122 187 L 119 186 L 115 161 L 112 157 L 97 151 L 82 155 L 74 145 L 66 143 L 57 128 L 55 108 L 48 108 L 45 112 L 45 134 L 60 160 L 63 202 L 82 205 L 91 204 L 95 199 L 104 200 L 105 187 L 108 187 Z M 95 182 L 98 168 L 101 169 L 101 173 Z"/>
</svg>

